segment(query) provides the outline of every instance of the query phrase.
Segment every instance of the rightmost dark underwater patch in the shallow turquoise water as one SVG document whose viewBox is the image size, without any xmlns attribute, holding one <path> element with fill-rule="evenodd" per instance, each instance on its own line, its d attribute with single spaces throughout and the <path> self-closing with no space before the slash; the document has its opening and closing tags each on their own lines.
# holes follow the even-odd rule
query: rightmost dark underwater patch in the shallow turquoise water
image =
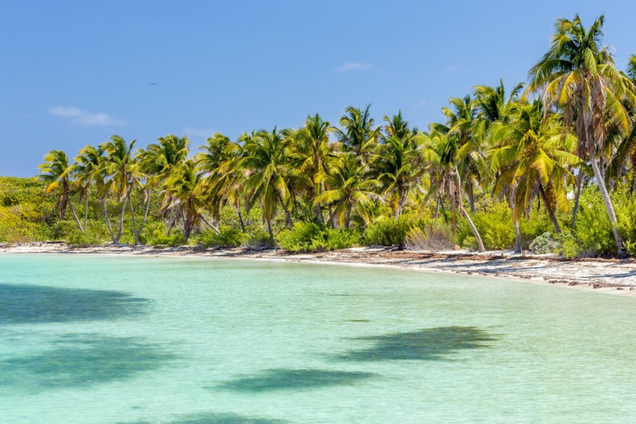
<svg viewBox="0 0 636 424">
<path fill-rule="evenodd" d="M 348 351 L 340 360 L 444 360 L 446 355 L 468 349 L 488 348 L 497 336 L 473 326 L 445 326 L 382 336 L 356 337 L 375 342 L 366 349 Z"/>
</svg>

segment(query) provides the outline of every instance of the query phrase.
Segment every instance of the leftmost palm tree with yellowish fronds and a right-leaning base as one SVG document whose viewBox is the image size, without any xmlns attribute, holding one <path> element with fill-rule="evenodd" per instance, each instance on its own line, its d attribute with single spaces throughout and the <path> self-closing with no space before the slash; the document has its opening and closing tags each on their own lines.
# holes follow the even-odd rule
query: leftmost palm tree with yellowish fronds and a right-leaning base
<svg viewBox="0 0 636 424">
<path fill-rule="evenodd" d="M 75 213 L 73 202 L 71 201 L 71 196 L 73 194 L 73 184 L 71 184 L 70 179 L 72 167 L 69 166 L 69 158 L 66 157 L 66 152 L 61 150 L 52 150 L 45 155 L 44 159 L 45 162 L 39 166 L 39 179 L 46 184 L 45 194 L 49 195 L 57 190 L 57 203 L 55 208 L 59 211 L 59 219 L 64 219 L 64 216 L 66 215 L 66 207 L 68 206 L 71 209 L 71 213 L 73 214 L 73 218 L 75 218 L 78 228 L 81 232 L 84 232 L 84 229 L 77 218 L 77 214 Z"/>
</svg>

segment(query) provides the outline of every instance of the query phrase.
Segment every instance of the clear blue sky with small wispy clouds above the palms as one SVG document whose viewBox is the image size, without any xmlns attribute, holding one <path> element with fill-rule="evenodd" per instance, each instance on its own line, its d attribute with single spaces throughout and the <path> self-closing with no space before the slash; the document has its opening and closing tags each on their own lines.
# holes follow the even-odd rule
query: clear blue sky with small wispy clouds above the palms
<svg viewBox="0 0 636 424">
<path fill-rule="evenodd" d="M 336 122 L 372 103 L 425 128 L 476 84 L 525 81 L 555 18 L 606 14 L 623 68 L 636 2 L 0 2 L 0 175 L 31 176 L 52 148 L 75 155 L 112 134 Z M 151 85 L 151 83 L 157 83 Z"/>
</svg>

